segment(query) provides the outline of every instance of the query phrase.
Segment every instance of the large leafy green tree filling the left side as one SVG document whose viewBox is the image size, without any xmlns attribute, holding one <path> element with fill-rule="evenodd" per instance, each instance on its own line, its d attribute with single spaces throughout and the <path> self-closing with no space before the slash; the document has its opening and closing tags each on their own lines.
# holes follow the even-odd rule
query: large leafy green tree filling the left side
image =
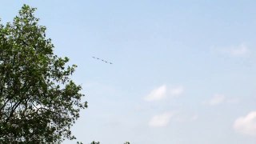
<svg viewBox="0 0 256 144">
<path fill-rule="evenodd" d="M 61 143 L 87 107 L 70 75 L 75 65 L 54 55 L 35 8 L 24 5 L 0 24 L 0 143 Z"/>
</svg>

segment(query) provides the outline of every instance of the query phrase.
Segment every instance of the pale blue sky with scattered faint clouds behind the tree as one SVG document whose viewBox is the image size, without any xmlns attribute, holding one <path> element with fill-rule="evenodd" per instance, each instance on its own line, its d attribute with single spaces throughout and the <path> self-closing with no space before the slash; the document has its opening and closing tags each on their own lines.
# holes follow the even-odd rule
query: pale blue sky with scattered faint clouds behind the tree
<svg viewBox="0 0 256 144">
<path fill-rule="evenodd" d="M 54 54 L 78 65 L 78 141 L 256 143 L 256 1 L 0 3 L 2 22 L 38 8 Z"/>
</svg>

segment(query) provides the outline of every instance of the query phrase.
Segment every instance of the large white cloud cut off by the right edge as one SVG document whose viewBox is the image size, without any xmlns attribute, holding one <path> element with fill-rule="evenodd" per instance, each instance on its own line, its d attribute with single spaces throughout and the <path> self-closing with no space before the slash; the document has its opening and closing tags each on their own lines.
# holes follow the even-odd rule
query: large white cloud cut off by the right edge
<svg viewBox="0 0 256 144">
<path fill-rule="evenodd" d="M 256 111 L 235 120 L 234 130 L 241 134 L 256 136 Z"/>
</svg>

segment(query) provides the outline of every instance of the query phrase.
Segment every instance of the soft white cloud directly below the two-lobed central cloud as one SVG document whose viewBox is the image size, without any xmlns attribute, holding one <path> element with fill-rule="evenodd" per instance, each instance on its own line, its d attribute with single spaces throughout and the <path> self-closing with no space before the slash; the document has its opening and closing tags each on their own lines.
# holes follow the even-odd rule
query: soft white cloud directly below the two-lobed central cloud
<svg viewBox="0 0 256 144">
<path fill-rule="evenodd" d="M 173 116 L 173 113 L 163 113 L 155 115 L 153 118 L 150 119 L 149 126 L 152 127 L 162 127 L 167 126 L 170 122 L 170 118 Z"/>
</svg>

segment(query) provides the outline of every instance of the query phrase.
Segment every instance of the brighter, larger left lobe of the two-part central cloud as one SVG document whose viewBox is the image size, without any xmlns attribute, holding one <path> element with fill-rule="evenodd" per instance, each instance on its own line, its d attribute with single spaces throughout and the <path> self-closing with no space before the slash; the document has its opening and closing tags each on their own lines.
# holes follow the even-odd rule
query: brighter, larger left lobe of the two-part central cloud
<svg viewBox="0 0 256 144">
<path fill-rule="evenodd" d="M 166 97 L 166 85 L 162 85 L 150 92 L 145 98 L 146 101 L 157 101 Z"/>
</svg>

